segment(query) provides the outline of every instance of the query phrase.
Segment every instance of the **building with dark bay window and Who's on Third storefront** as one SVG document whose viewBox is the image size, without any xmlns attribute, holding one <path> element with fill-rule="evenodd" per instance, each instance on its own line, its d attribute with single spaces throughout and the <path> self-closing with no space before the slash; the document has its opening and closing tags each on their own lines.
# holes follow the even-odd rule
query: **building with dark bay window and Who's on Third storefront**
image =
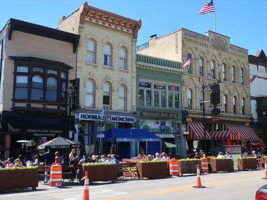
<svg viewBox="0 0 267 200">
<path fill-rule="evenodd" d="M 2 28 L 0 157 L 31 160 L 40 143 L 68 136 L 66 89 L 75 78 L 78 41 L 79 35 L 13 18 Z M 22 151 L 21 139 L 30 141 Z"/>
</svg>

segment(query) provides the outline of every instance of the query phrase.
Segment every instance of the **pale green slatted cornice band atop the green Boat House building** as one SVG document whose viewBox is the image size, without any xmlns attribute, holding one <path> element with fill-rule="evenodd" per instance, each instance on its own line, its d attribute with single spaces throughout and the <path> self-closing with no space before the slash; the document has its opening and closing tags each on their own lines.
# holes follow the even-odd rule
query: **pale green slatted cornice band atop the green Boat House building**
<svg viewBox="0 0 267 200">
<path fill-rule="evenodd" d="M 160 66 L 167 66 L 167 67 L 172 67 L 172 68 L 177 68 L 177 69 L 181 68 L 180 62 L 151 57 L 147 55 L 141 55 L 141 54 L 136 54 L 136 61 L 160 65 Z"/>
</svg>

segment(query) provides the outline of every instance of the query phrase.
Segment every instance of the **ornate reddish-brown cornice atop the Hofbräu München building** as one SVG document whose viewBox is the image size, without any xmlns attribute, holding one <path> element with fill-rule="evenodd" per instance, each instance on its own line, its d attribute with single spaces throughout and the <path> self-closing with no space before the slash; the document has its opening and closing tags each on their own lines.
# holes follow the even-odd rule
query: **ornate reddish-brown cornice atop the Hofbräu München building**
<svg viewBox="0 0 267 200">
<path fill-rule="evenodd" d="M 142 24 L 140 19 L 136 21 L 126 18 L 112 12 L 89 6 L 87 2 L 84 2 L 79 9 L 81 10 L 79 16 L 80 24 L 87 21 L 111 29 L 130 33 L 134 39 L 137 38 L 138 30 Z"/>
</svg>

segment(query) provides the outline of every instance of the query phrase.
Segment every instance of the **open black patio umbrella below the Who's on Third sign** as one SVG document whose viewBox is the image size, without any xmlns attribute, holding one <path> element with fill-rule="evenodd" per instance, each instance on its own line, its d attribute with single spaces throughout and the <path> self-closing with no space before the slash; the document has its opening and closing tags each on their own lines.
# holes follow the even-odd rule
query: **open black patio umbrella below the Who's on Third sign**
<svg viewBox="0 0 267 200">
<path fill-rule="evenodd" d="M 79 141 L 73 141 L 64 137 L 56 137 L 50 141 L 47 141 L 41 145 L 37 146 L 37 149 L 44 149 L 45 147 L 49 148 L 76 148 L 81 147 L 82 144 Z"/>
</svg>

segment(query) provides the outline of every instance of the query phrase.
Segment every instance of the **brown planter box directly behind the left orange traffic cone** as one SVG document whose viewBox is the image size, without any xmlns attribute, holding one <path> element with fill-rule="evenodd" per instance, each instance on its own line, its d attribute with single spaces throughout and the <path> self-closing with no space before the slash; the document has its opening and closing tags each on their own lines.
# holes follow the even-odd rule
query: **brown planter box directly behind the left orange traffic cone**
<svg viewBox="0 0 267 200">
<path fill-rule="evenodd" d="M 84 172 L 87 171 L 89 182 L 114 181 L 117 179 L 116 167 L 116 164 L 82 166 L 83 172 L 80 174 L 84 175 Z"/>
</svg>

